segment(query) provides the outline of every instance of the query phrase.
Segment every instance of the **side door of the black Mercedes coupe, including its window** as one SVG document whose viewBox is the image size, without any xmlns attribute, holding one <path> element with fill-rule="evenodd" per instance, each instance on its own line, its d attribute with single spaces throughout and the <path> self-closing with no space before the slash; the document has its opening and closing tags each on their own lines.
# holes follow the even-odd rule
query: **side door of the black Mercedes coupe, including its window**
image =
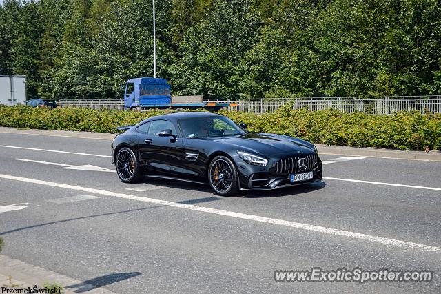
<svg viewBox="0 0 441 294">
<path fill-rule="evenodd" d="M 172 121 L 156 119 L 147 122 L 148 126 L 141 125 L 138 131 L 139 161 L 150 172 L 167 175 L 182 175 L 185 173 L 181 166 L 182 137 L 176 131 Z M 161 137 L 162 130 L 172 130 L 176 137 Z"/>
</svg>

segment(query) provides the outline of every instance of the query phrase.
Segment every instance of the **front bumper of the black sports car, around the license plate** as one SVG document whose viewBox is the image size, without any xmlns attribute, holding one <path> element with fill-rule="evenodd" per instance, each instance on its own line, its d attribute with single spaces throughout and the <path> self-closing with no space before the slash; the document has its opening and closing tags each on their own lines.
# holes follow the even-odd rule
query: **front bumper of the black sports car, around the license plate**
<svg viewBox="0 0 441 294">
<path fill-rule="evenodd" d="M 298 186 L 322 180 L 322 162 L 318 159 L 318 164 L 313 169 L 305 171 L 293 171 L 280 175 L 274 173 L 275 162 L 278 159 L 271 159 L 268 166 L 252 166 L 245 162 L 238 163 L 238 177 L 241 190 L 274 190 L 289 186 Z M 271 168 L 272 167 L 272 168 Z M 312 179 L 302 182 L 291 183 L 290 174 L 312 172 Z"/>
</svg>

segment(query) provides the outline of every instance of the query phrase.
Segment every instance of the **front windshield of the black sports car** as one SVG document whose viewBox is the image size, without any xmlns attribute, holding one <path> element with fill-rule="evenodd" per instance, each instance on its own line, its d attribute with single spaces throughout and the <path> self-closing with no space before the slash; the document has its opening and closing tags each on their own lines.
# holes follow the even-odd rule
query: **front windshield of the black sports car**
<svg viewBox="0 0 441 294">
<path fill-rule="evenodd" d="M 193 117 L 179 121 L 186 138 L 227 137 L 244 135 L 245 131 L 227 117 Z"/>
</svg>

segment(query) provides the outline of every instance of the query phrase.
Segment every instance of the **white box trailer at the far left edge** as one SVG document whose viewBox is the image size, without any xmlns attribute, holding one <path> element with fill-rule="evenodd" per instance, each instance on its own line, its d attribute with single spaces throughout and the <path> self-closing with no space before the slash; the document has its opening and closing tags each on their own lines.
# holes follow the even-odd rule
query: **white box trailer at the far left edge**
<svg viewBox="0 0 441 294">
<path fill-rule="evenodd" d="M 0 75 L 0 104 L 17 105 L 26 102 L 24 75 Z"/>
</svg>

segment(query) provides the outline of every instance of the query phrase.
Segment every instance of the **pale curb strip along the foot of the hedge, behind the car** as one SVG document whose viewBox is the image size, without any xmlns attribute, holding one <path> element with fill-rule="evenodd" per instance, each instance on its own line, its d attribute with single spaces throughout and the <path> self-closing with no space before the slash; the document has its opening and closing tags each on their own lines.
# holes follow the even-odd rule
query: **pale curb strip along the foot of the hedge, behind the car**
<svg viewBox="0 0 441 294">
<path fill-rule="evenodd" d="M 0 133 L 22 134 L 22 135 L 41 135 L 52 137 L 70 137 L 81 139 L 100 139 L 113 140 L 117 134 L 76 132 L 69 130 L 32 130 L 0 127 Z M 407 159 L 421 161 L 441 161 L 441 151 L 403 151 L 386 148 L 359 148 L 350 146 L 327 146 L 317 144 L 318 153 L 322 155 L 348 155 L 362 157 L 378 157 L 387 159 Z"/>
</svg>

